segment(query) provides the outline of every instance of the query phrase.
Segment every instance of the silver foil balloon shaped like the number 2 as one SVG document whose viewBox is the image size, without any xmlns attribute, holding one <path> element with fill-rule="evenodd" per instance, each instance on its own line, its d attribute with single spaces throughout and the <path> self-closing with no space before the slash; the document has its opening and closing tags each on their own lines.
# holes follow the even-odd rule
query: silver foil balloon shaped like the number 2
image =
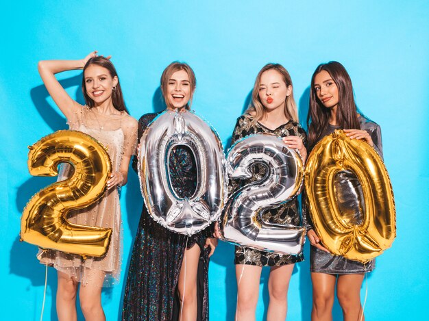
<svg viewBox="0 0 429 321">
<path fill-rule="evenodd" d="M 297 255 L 304 245 L 304 227 L 265 222 L 262 213 L 298 194 L 304 177 L 302 159 L 281 138 L 256 134 L 232 146 L 227 155 L 228 175 L 248 179 L 255 164 L 266 166 L 267 175 L 230 196 L 219 224 L 221 235 L 242 246 Z"/>
</svg>

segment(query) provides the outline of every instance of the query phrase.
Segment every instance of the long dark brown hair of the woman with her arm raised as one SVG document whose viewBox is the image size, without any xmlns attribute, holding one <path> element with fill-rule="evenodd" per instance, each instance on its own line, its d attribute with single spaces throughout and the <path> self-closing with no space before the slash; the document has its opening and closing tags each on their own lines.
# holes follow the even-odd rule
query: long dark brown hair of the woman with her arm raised
<svg viewBox="0 0 429 321">
<path fill-rule="evenodd" d="M 86 86 L 85 86 L 85 70 L 92 64 L 96 64 L 97 66 L 106 68 L 107 70 L 109 70 L 110 77 L 113 78 L 116 76 L 118 78 L 118 84 L 116 86 L 116 90 L 112 91 L 113 107 L 116 110 L 119 110 L 119 112 L 125 111 L 127 114 L 130 114 L 127 110 L 127 107 L 125 107 L 125 101 L 123 101 L 123 94 L 122 94 L 121 84 L 119 83 L 117 70 L 114 68 L 112 62 L 108 60 L 106 57 L 103 57 L 102 55 L 98 55 L 97 57 L 90 58 L 84 66 L 84 77 L 82 78 L 82 92 L 84 93 L 84 99 L 85 99 L 86 105 L 88 105 L 88 107 L 90 108 L 94 107 L 95 105 L 93 99 L 90 99 L 90 97 L 88 96 L 88 93 L 86 92 Z"/>
</svg>

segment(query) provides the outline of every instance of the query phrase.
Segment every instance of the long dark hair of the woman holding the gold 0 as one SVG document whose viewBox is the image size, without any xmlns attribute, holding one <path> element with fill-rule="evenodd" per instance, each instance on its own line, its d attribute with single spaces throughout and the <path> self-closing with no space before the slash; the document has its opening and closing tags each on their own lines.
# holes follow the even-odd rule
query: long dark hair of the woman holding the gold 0
<svg viewBox="0 0 429 321">
<path fill-rule="evenodd" d="M 336 108 L 336 122 L 341 129 L 360 129 L 356 103 L 354 102 L 352 80 L 347 70 L 339 62 L 319 64 L 311 77 L 310 108 L 307 116 L 308 145 L 310 148 L 328 128 L 330 108 L 319 101 L 315 91 L 315 77 L 322 70 L 329 73 L 338 88 L 339 103 Z"/>
</svg>

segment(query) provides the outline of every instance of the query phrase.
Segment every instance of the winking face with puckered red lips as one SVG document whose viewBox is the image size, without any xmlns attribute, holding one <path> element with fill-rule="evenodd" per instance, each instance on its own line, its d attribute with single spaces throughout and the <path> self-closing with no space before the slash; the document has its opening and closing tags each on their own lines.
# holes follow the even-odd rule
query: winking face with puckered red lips
<svg viewBox="0 0 429 321">
<path fill-rule="evenodd" d="M 287 86 L 282 74 L 277 70 L 269 69 L 260 75 L 259 99 L 267 110 L 283 108 L 288 97 L 292 92 L 292 86 Z"/>
</svg>

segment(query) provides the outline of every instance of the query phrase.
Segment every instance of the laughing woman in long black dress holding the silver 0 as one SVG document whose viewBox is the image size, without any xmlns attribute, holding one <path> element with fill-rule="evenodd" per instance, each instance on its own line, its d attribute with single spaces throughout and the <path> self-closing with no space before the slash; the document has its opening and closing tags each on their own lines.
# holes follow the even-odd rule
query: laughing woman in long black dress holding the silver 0
<svg viewBox="0 0 429 321">
<path fill-rule="evenodd" d="M 195 90 L 193 70 L 187 64 L 173 62 L 162 73 L 161 89 L 168 109 L 189 109 Z M 157 115 L 140 118 L 139 140 Z M 169 157 L 171 185 L 182 198 L 191 197 L 197 187 L 197 166 L 192 155 L 191 149 L 179 146 Z M 137 162 L 134 157 L 136 171 Z M 217 245 L 210 236 L 210 227 L 189 237 L 169 231 L 155 222 L 144 206 L 130 261 L 122 319 L 179 320 L 182 313 L 184 321 L 208 320 L 208 260 Z"/>
</svg>

